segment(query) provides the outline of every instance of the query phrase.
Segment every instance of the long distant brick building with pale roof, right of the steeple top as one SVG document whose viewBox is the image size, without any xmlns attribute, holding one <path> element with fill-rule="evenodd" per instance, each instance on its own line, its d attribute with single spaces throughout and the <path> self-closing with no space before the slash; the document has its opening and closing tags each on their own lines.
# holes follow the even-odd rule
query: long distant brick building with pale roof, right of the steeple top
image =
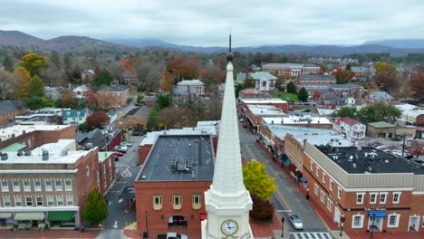
<svg viewBox="0 0 424 239">
<path fill-rule="evenodd" d="M 301 74 L 317 74 L 320 71 L 319 66 L 296 63 L 267 63 L 262 65 L 265 72 L 275 73 L 276 76 L 285 78 Z"/>
</svg>

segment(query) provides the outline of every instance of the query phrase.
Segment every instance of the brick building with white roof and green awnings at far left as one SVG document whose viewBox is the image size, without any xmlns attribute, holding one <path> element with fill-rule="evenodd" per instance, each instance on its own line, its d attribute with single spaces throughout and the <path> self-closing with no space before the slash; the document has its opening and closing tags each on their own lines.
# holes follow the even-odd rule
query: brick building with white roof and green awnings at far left
<svg viewBox="0 0 424 239">
<path fill-rule="evenodd" d="M 43 132 L 43 131 L 42 131 Z M 75 139 L 59 139 L 37 148 L 0 149 L 2 224 L 81 225 L 87 196 L 114 179 L 111 152 L 77 151 Z"/>
</svg>

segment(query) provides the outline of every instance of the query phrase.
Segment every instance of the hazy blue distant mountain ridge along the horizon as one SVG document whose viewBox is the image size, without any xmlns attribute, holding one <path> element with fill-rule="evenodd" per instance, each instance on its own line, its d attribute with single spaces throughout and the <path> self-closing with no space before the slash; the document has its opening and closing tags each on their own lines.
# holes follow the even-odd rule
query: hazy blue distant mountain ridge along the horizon
<svg viewBox="0 0 424 239">
<path fill-rule="evenodd" d="M 410 43 L 414 47 L 405 47 Z M 393 47 L 399 45 L 402 47 Z M 58 52 L 87 52 L 101 53 L 132 53 L 142 49 L 157 51 L 183 51 L 197 53 L 226 53 L 226 47 L 198 47 L 167 43 L 159 39 L 106 39 L 98 40 L 86 36 L 59 36 L 43 40 L 19 31 L 1 31 L 0 47 L 18 46 L 35 50 Z M 272 44 L 257 47 L 236 47 L 234 51 L 241 53 L 305 53 L 312 55 L 342 56 L 350 53 L 390 53 L 392 56 L 402 56 L 408 53 L 424 53 L 424 40 L 383 40 L 365 42 L 361 45 L 325 45 L 325 44 Z"/>
</svg>

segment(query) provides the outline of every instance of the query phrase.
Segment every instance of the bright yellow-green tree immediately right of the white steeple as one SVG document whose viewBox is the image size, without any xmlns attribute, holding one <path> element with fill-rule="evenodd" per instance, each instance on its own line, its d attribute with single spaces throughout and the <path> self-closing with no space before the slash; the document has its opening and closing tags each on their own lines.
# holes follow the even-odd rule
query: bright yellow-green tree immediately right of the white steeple
<svg viewBox="0 0 424 239">
<path fill-rule="evenodd" d="M 268 199 L 277 188 L 275 178 L 269 177 L 265 165 L 257 160 L 250 161 L 243 167 L 243 181 L 250 194 L 261 200 Z"/>
</svg>

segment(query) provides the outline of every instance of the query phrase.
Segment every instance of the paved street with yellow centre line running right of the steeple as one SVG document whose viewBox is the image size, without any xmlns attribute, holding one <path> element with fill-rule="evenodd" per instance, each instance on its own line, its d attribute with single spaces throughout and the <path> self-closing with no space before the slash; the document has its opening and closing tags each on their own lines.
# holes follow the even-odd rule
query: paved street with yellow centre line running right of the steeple
<svg viewBox="0 0 424 239">
<path fill-rule="evenodd" d="M 282 216 L 286 218 L 284 223 L 285 230 L 296 232 L 287 221 L 287 215 L 293 212 L 304 220 L 304 232 L 328 232 L 326 225 L 319 219 L 319 215 L 315 213 L 306 198 L 279 172 L 278 166 L 266 157 L 262 148 L 257 146 L 255 143 L 257 136 L 250 130 L 241 127 L 241 124 L 239 129 L 241 150 L 245 158 L 247 160 L 256 159 L 264 163 L 268 175 L 275 177 L 275 183 L 278 188 L 275 190 L 271 201 L 275 205 L 275 210 L 277 210 L 279 218 Z M 292 234 L 291 238 L 295 238 L 294 234 Z"/>
</svg>

